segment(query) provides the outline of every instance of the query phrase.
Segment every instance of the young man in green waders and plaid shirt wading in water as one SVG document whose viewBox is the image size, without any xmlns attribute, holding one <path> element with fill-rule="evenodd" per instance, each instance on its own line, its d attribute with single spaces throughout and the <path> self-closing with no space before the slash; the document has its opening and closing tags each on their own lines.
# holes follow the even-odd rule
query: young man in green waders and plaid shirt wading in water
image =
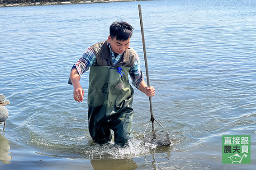
<svg viewBox="0 0 256 170">
<path fill-rule="evenodd" d="M 123 146 L 132 138 L 133 88 L 147 96 L 155 96 L 154 87 L 147 87 L 140 69 L 139 58 L 130 46 L 133 27 L 126 22 L 114 22 L 106 41 L 88 48 L 73 65 L 69 84 L 74 86 L 75 101 L 82 102 L 84 90 L 79 80 L 90 67 L 88 89 L 88 123 L 93 140 L 99 144 L 111 141 Z"/>
</svg>

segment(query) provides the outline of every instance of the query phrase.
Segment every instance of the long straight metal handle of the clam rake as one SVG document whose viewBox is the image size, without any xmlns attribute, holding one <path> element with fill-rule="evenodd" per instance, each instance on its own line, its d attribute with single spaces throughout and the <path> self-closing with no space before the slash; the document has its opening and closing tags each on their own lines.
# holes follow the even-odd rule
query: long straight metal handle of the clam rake
<svg viewBox="0 0 256 170">
<path fill-rule="evenodd" d="M 146 53 L 146 46 L 145 46 L 145 38 L 144 38 L 144 29 L 143 29 L 143 22 L 142 22 L 141 5 L 138 5 L 138 7 L 139 7 L 139 16 L 140 16 L 140 24 L 141 24 L 141 35 L 142 35 L 144 60 L 145 60 L 145 67 L 146 67 L 146 74 L 147 74 L 147 87 L 150 87 L 148 68 L 147 68 L 147 53 Z M 155 126 L 154 126 L 154 115 L 153 115 L 153 110 L 152 110 L 152 101 L 151 101 L 151 97 L 148 97 L 148 98 L 149 98 L 149 104 L 150 104 L 150 115 L 151 115 L 151 121 L 152 121 L 153 136 L 156 136 Z"/>
</svg>

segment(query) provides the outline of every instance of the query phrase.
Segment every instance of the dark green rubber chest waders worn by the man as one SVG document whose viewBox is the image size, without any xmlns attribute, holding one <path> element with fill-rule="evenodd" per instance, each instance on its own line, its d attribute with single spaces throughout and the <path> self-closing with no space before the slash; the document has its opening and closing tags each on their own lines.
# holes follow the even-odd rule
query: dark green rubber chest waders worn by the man
<svg viewBox="0 0 256 170">
<path fill-rule="evenodd" d="M 103 144 L 111 141 L 123 145 L 132 138 L 133 88 L 128 74 L 129 67 L 122 67 L 122 74 L 109 66 L 91 66 L 88 89 L 88 122 L 93 140 Z"/>
</svg>

